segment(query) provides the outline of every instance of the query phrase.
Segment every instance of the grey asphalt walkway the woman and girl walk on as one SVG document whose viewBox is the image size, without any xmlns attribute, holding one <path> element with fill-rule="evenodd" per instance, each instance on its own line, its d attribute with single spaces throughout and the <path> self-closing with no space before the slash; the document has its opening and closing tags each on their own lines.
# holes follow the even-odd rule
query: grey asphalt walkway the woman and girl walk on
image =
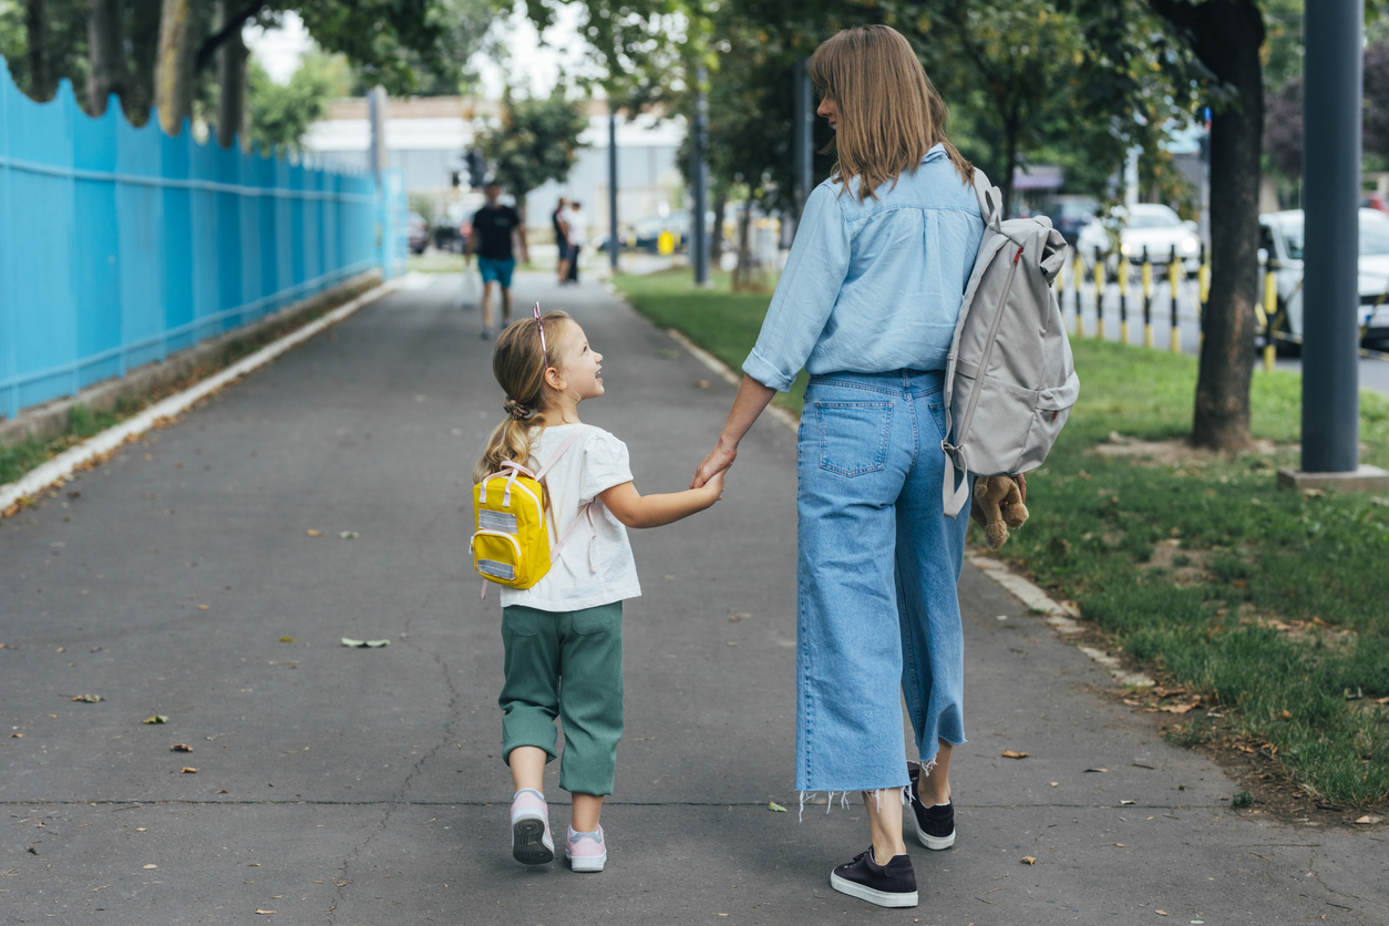
<svg viewBox="0 0 1389 926">
<path fill-rule="evenodd" d="M 1097 697 L 1107 676 L 972 566 L 958 844 L 911 850 L 917 909 L 831 891 L 867 839 L 861 807 L 795 812 L 795 441 L 770 418 L 722 504 L 635 537 L 608 870 L 518 866 L 499 609 L 467 561 L 501 403 L 457 293 L 363 310 L 0 522 L 0 722 L 22 734 L 0 736 L 0 920 L 1389 922 L 1382 833 L 1236 815 L 1215 766 Z M 606 354 L 586 418 L 643 490 L 682 487 L 732 390 L 594 283 L 522 276 L 538 297 Z"/>
</svg>

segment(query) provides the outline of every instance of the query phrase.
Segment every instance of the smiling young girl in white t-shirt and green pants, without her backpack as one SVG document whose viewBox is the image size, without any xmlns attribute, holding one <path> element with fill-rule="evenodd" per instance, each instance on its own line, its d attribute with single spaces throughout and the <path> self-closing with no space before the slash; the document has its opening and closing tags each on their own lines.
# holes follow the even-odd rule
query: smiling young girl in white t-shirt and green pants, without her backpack
<svg viewBox="0 0 1389 926">
<path fill-rule="evenodd" d="M 501 757 L 511 766 L 511 854 L 522 865 L 554 858 L 544 766 L 556 758 L 554 718 L 564 726 L 560 787 L 574 795 L 567 851 L 576 872 L 601 872 L 599 825 L 613 793 L 622 736 L 622 600 L 642 594 L 625 528 L 656 528 L 703 511 L 722 494 L 722 475 L 700 489 L 642 496 L 626 444 L 579 422 L 579 403 L 603 394 L 603 355 L 564 312 L 539 305 L 497 339 L 492 372 L 507 394 L 507 419 L 472 471 L 482 482 L 506 461 L 532 471 L 582 429 L 544 478 L 551 546 L 583 518 L 550 571 L 529 589 L 501 590 Z M 625 525 L 625 528 L 624 528 Z M 563 679 L 563 683 L 561 683 Z"/>
</svg>

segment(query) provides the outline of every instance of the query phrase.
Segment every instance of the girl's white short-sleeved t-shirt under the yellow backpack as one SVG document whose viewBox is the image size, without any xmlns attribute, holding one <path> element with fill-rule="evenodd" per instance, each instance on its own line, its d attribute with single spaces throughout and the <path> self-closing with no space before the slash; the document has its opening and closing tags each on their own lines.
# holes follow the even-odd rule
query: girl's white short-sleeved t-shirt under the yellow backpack
<svg viewBox="0 0 1389 926">
<path fill-rule="evenodd" d="M 589 503 L 593 503 L 593 530 L 586 522 L 579 523 L 558 558 L 551 557 L 550 571 L 529 589 L 503 587 L 503 608 L 521 604 L 540 611 L 581 611 L 642 594 L 626 528 L 597 497 L 632 482 L 626 444 L 592 425 L 557 425 L 544 428 L 539 440 L 532 441 L 528 465 L 532 472 L 539 469 L 575 428 L 583 428 L 583 433 L 544 476 L 550 490 L 550 548 Z"/>
</svg>

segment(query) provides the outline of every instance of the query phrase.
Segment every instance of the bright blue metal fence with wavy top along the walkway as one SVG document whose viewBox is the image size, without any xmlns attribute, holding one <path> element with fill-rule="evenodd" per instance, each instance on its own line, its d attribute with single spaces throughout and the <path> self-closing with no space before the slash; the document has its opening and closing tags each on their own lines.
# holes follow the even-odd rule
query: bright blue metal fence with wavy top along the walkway
<svg viewBox="0 0 1389 926">
<path fill-rule="evenodd" d="M 89 118 L 67 81 L 33 103 L 0 61 L 0 415 L 393 271 L 393 211 L 365 174 Z"/>
</svg>

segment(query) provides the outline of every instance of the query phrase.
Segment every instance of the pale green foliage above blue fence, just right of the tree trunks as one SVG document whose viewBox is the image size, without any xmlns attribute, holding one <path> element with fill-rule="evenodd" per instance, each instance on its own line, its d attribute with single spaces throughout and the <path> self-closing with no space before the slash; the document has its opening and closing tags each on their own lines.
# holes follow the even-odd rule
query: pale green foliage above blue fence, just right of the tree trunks
<svg viewBox="0 0 1389 926">
<path fill-rule="evenodd" d="M 261 150 L 299 149 L 308 125 L 328 112 L 328 103 L 346 92 L 347 67 L 338 57 L 304 56 L 289 83 L 275 83 L 257 61 L 247 62 L 246 108 L 250 140 Z"/>
</svg>

